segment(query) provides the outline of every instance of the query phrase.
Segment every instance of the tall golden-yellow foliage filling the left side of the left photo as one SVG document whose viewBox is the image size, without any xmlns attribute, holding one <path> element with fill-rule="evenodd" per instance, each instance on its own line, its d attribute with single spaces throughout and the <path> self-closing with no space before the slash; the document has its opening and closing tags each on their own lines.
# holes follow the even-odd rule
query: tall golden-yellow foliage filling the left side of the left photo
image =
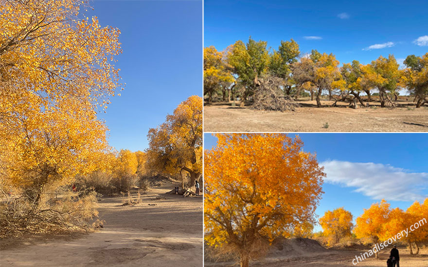
<svg viewBox="0 0 428 267">
<path fill-rule="evenodd" d="M 36 201 L 46 184 L 94 170 L 108 150 L 96 111 L 122 86 L 113 66 L 120 32 L 80 17 L 80 6 L 1 0 L 0 163 Z"/>
</svg>

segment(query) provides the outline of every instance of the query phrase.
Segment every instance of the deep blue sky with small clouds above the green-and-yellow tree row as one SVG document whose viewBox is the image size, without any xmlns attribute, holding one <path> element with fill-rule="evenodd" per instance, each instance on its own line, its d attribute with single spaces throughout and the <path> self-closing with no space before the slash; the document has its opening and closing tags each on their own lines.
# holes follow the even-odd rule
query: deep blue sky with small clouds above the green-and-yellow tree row
<svg viewBox="0 0 428 267">
<path fill-rule="evenodd" d="M 223 50 L 251 35 L 274 49 L 293 38 L 303 53 L 332 52 L 341 63 L 403 60 L 428 51 L 427 10 L 427 0 L 205 0 L 204 46 Z M 413 43 L 419 37 L 425 46 Z"/>
</svg>

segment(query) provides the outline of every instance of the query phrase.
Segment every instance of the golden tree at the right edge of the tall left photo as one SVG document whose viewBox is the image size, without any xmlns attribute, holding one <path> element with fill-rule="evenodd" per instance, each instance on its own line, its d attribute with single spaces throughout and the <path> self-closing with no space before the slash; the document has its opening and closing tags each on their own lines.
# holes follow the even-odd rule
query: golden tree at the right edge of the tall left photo
<svg viewBox="0 0 428 267">
<path fill-rule="evenodd" d="M 153 169 L 190 174 L 191 185 L 202 174 L 202 99 L 191 96 L 147 134 L 147 158 Z"/>
</svg>

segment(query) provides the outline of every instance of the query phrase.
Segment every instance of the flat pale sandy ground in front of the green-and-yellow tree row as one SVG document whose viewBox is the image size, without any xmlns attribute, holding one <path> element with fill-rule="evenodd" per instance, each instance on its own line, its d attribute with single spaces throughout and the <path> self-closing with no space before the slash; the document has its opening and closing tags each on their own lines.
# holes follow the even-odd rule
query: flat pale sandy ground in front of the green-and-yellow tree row
<svg viewBox="0 0 428 267">
<path fill-rule="evenodd" d="M 428 107 L 414 108 L 400 101 L 394 109 L 371 107 L 316 107 L 316 101 L 299 101 L 292 112 L 258 111 L 231 103 L 204 106 L 204 132 L 428 132 Z M 332 101 L 321 101 L 331 105 Z M 328 123 L 328 128 L 323 126 Z"/>
</svg>

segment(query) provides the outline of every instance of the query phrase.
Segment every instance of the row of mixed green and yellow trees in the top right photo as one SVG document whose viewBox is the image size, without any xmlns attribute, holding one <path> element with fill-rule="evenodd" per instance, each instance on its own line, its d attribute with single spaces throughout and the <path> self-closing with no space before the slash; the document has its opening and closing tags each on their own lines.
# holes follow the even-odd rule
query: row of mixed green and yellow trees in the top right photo
<svg viewBox="0 0 428 267">
<path fill-rule="evenodd" d="M 379 56 L 370 64 L 357 60 L 340 66 L 332 53 L 304 54 L 291 39 L 277 50 L 266 41 L 236 41 L 224 51 L 204 49 L 204 96 L 207 103 L 241 100 L 254 109 L 294 110 L 299 98 L 310 97 L 321 107 L 321 97 L 349 106 L 397 106 L 405 88 L 417 108 L 428 105 L 428 53 L 409 55 L 400 69 L 394 56 Z M 280 88 L 280 89 L 278 89 Z"/>
</svg>

